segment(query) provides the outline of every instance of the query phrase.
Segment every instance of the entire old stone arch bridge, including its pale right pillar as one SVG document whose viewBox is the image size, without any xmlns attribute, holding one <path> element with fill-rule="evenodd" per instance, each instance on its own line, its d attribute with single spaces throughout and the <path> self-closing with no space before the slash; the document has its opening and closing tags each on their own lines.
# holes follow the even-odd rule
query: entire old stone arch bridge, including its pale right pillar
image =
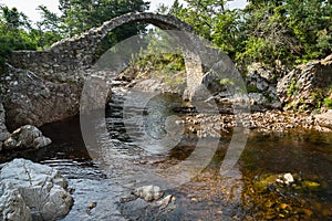
<svg viewBox="0 0 332 221">
<path fill-rule="evenodd" d="M 173 15 L 163 15 L 149 12 L 141 13 L 127 13 L 103 23 L 98 28 L 93 28 L 81 35 L 64 39 L 60 42 L 54 43 L 50 49 L 44 51 L 17 51 L 13 53 L 13 59 L 10 61 L 15 67 L 30 70 L 37 75 L 43 76 L 46 80 L 66 80 L 71 75 L 83 70 L 89 70 L 95 62 L 96 50 L 102 40 L 117 27 L 132 22 L 145 22 L 154 24 L 162 30 L 178 30 L 184 33 L 194 33 L 193 28 Z M 179 34 L 180 35 L 180 34 Z M 189 36 L 189 38 L 188 38 Z M 201 41 L 198 38 L 195 40 L 195 35 L 177 36 L 180 41 L 187 41 L 187 44 L 183 50 L 186 72 L 187 72 L 187 92 L 193 95 L 195 88 L 203 82 L 203 65 L 207 63 L 215 63 L 214 59 L 219 59 L 220 54 L 216 56 L 216 51 L 211 51 L 211 48 L 201 45 Z M 196 44 L 195 44 L 196 42 Z M 208 51 L 207 51 L 208 50 Z M 218 52 L 217 52 L 218 53 Z M 204 54 L 201 56 L 201 54 Z M 209 54 L 209 56 L 206 56 Z M 229 70 L 231 61 L 228 56 L 222 54 L 224 61 L 227 64 L 224 65 L 224 70 L 230 73 Z M 209 66 L 208 64 L 207 66 Z M 211 65 L 210 65 L 211 66 Z M 222 71 L 225 72 L 225 71 Z M 59 77 L 61 76 L 61 77 Z M 64 76 L 64 77 L 63 77 Z M 190 96 L 190 95 L 189 95 Z"/>
</svg>

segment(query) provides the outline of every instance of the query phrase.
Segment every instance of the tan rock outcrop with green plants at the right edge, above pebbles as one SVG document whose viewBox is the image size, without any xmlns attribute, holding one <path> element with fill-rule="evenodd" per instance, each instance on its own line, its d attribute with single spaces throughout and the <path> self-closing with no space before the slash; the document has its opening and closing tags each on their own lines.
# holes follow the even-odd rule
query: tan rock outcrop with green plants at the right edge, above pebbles
<svg viewBox="0 0 332 221">
<path fill-rule="evenodd" d="M 277 92 L 286 109 L 311 110 L 331 95 L 331 86 L 332 54 L 294 69 L 280 80 Z"/>
</svg>

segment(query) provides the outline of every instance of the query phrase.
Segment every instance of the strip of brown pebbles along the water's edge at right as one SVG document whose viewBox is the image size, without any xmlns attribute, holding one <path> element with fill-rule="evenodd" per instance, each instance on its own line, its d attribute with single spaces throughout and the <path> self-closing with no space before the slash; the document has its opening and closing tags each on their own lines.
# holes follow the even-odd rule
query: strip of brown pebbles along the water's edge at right
<svg viewBox="0 0 332 221">
<path fill-rule="evenodd" d="M 198 137 L 214 136 L 207 134 L 200 127 L 204 123 L 208 128 L 219 128 L 222 135 L 230 135 L 235 126 L 246 125 L 250 130 L 259 133 L 287 133 L 294 129 L 298 130 L 318 130 L 322 133 L 332 131 L 331 110 L 320 115 L 308 115 L 303 113 L 282 112 L 282 110 L 267 110 L 257 112 L 246 118 L 245 122 L 237 122 L 235 115 L 222 114 L 216 116 L 207 116 L 205 114 L 197 114 L 186 117 L 187 128 L 190 133 Z M 218 124 L 218 125 L 217 125 Z M 215 131 L 216 133 L 216 131 Z"/>
</svg>

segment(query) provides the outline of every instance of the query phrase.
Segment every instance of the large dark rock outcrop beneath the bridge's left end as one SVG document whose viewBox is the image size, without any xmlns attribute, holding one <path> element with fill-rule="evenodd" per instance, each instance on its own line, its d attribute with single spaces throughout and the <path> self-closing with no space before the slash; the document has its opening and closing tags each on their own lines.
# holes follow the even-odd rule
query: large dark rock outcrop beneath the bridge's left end
<svg viewBox="0 0 332 221">
<path fill-rule="evenodd" d="M 1 80 L 8 129 L 22 125 L 41 126 L 75 116 L 82 86 L 68 81 L 53 83 L 30 71 L 11 67 Z"/>
</svg>

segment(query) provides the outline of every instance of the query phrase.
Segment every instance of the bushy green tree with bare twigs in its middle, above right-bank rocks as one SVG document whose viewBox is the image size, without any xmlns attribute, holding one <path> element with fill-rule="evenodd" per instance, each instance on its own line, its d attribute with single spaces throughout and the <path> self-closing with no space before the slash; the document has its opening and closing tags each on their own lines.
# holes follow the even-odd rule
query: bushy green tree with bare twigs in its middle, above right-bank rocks
<svg viewBox="0 0 332 221">
<path fill-rule="evenodd" d="M 243 11 L 241 32 L 245 34 L 243 50 L 237 61 L 248 65 L 252 62 L 273 64 L 274 60 L 288 60 L 299 54 L 297 41 L 287 24 L 281 1 L 252 1 Z"/>
</svg>

